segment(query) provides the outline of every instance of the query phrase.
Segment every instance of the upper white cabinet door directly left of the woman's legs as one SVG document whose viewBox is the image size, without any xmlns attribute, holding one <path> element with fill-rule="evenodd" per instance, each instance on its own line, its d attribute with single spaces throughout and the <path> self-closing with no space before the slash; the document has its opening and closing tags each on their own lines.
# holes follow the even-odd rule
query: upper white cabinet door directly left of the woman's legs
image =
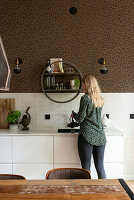
<svg viewBox="0 0 134 200">
<path fill-rule="evenodd" d="M 77 135 L 54 136 L 54 163 L 80 163 Z"/>
</svg>

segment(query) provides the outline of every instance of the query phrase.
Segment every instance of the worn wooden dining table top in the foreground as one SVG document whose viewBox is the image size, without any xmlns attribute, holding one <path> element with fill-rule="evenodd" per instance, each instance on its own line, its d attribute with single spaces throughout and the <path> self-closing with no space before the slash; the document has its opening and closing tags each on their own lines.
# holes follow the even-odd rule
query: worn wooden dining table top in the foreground
<svg viewBox="0 0 134 200">
<path fill-rule="evenodd" d="M 132 199 L 122 185 L 118 179 L 2 180 L 0 200 Z"/>
</svg>

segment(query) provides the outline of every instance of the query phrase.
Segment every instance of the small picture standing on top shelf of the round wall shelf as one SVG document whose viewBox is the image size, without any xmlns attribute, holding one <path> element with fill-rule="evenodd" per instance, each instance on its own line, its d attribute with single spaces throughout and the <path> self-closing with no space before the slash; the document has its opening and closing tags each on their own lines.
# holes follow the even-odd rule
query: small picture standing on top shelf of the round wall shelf
<svg viewBox="0 0 134 200">
<path fill-rule="evenodd" d="M 50 58 L 50 65 L 52 73 L 64 72 L 62 58 Z"/>
</svg>

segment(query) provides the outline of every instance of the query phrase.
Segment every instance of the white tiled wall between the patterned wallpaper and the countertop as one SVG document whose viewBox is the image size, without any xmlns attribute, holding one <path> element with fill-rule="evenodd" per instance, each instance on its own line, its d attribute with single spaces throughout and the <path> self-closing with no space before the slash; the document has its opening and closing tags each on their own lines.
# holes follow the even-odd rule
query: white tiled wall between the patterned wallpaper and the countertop
<svg viewBox="0 0 134 200">
<path fill-rule="evenodd" d="M 63 94 L 53 95 L 58 95 L 59 99 L 63 97 Z M 78 111 L 81 96 L 59 104 L 50 101 L 43 93 L 0 93 L 0 98 L 16 99 L 16 109 L 22 116 L 26 108 L 31 107 L 31 130 L 66 127 L 71 111 Z M 103 93 L 102 96 L 105 99 L 102 114 L 109 114 L 111 124 L 124 133 L 124 178 L 134 179 L 134 119 L 130 119 L 130 114 L 134 114 L 134 93 Z M 51 119 L 45 120 L 45 114 L 50 114 Z"/>
</svg>

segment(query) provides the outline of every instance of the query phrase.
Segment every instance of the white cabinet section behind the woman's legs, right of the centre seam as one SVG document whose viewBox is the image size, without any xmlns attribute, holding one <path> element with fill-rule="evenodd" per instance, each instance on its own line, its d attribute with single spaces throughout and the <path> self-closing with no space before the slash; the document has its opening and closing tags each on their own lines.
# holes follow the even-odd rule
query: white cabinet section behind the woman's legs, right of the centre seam
<svg viewBox="0 0 134 200">
<path fill-rule="evenodd" d="M 54 168 L 81 167 L 78 155 L 77 139 L 75 136 L 54 136 Z M 104 166 L 107 178 L 120 178 L 123 176 L 123 137 L 107 136 L 104 155 Z M 98 178 L 91 159 L 91 177 Z"/>
</svg>

